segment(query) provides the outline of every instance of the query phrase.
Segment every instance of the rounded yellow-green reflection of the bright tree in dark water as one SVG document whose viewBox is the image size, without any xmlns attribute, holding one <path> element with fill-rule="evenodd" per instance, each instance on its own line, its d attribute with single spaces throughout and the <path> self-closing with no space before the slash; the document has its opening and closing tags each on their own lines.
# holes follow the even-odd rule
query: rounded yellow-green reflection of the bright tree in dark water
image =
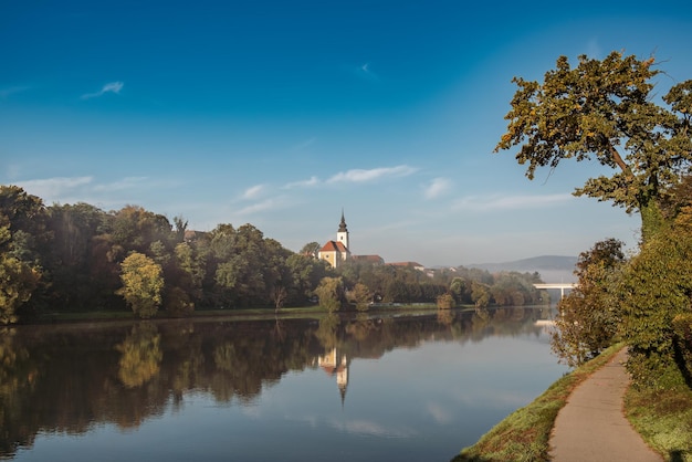
<svg viewBox="0 0 692 462">
<path fill-rule="evenodd" d="M 154 324 L 140 323 L 116 346 L 120 351 L 118 378 L 126 387 L 140 387 L 158 375 L 164 357 L 160 339 Z"/>
</svg>

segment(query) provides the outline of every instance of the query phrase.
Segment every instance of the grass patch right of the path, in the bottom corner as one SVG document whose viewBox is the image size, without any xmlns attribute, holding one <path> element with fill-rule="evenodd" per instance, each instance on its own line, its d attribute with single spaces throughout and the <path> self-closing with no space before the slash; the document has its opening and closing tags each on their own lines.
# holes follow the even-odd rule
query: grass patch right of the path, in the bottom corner
<svg viewBox="0 0 692 462">
<path fill-rule="evenodd" d="M 692 462 L 692 390 L 630 387 L 625 412 L 650 448 L 670 462 Z"/>
</svg>

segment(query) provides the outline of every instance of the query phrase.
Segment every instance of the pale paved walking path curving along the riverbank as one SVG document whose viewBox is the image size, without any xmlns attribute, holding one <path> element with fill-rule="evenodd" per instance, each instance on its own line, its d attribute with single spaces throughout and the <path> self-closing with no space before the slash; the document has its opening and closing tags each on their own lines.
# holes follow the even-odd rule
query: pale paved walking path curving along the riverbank
<svg viewBox="0 0 692 462">
<path fill-rule="evenodd" d="M 622 412 L 630 377 L 627 348 L 581 382 L 557 414 L 551 435 L 555 462 L 662 462 Z"/>
</svg>

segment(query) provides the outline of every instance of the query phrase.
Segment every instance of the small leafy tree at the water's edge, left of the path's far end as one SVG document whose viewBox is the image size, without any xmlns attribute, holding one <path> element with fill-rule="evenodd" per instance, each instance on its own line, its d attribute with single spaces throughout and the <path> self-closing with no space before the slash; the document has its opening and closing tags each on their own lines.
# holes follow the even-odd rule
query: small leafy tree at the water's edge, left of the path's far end
<svg viewBox="0 0 692 462">
<path fill-rule="evenodd" d="M 620 325 L 618 281 L 626 263 L 622 242 L 597 242 L 576 264 L 577 286 L 557 304 L 551 346 L 560 361 L 578 366 L 610 346 Z"/>
</svg>

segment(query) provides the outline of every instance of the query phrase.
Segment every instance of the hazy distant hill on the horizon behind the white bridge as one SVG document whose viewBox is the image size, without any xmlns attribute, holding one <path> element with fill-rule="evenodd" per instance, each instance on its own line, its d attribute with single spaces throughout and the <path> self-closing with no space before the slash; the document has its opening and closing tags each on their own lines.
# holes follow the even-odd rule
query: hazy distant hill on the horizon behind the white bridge
<svg viewBox="0 0 692 462">
<path fill-rule="evenodd" d="M 538 272 L 545 282 L 574 282 L 576 280 L 574 275 L 576 263 L 576 256 L 543 255 L 513 262 L 473 263 L 464 266 L 478 267 L 491 273 L 500 271 Z"/>
</svg>

